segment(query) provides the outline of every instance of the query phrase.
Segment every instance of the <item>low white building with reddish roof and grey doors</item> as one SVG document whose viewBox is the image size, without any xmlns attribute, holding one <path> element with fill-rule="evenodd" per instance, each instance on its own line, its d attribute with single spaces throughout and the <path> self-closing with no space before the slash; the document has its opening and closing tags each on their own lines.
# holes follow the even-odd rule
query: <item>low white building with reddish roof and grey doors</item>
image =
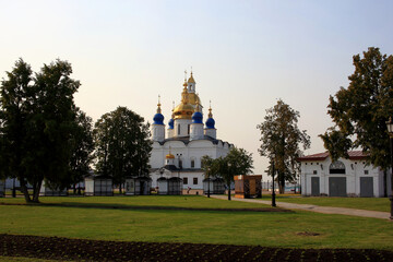
<svg viewBox="0 0 393 262">
<path fill-rule="evenodd" d="M 361 151 L 352 151 L 348 155 L 348 159 L 338 158 L 336 162 L 332 162 L 327 152 L 298 158 L 301 163 L 301 194 L 383 196 L 383 171 L 367 165 Z"/>
</svg>

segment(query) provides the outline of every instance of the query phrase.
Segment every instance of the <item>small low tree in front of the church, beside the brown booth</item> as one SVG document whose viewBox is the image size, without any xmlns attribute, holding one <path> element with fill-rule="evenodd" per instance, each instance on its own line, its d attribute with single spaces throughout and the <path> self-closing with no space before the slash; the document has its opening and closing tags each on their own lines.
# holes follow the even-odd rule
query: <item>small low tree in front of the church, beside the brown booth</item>
<svg viewBox="0 0 393 262">
<path fill-rule="evenodd" d="M 211 160 L 211 175 L 224 179 L 228 187 L 228 200 L 230 200 L 230 183 L 234 181 L 234 176 L 250 174 L 252 168 L 252 154 L 243 148 L 233 147 L 225 157 Z"/>
</svg>

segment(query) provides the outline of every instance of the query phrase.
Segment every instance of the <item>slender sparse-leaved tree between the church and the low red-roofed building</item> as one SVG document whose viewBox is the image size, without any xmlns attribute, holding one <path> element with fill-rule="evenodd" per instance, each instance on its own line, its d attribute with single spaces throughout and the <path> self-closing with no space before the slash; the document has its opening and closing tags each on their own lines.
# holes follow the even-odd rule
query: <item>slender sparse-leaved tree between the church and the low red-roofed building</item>
<svg viewBox="0 0 393 262">
<path fill-rule="evenodd" d="M 285 181 L 293 181 L 299 172 L 297 158 L 301 156 L 302 148 L 310 147 L 310 136 L 306 130 L 300 131 L 297 123 L 300 114 L 282 99 L 266 110 L 264 122 L 257 126 L 261 131 L 262 142 L 258 150 L 261 156 L 266 156 L 274 162 L 275 170 L 278 174 L 279 193 L 284 193 Z M 272 176 L 272 168 L 269 167 L 269 175 Z"/>
</svg>

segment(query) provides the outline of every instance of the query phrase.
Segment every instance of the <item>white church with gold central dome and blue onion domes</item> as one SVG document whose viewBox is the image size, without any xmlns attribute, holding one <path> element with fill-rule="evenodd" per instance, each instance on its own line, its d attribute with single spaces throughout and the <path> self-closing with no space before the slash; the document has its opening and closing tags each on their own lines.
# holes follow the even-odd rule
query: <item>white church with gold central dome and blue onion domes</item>
<svg viewBox="0 0 393 262">
<path fill-rule="evenodd" d="M 201 158 L 226 156 L 231 144 L 216 138 L 215 120 L 212 108 L 203 123 L 203 106 L 195 93 L 192 72 L 184 81 L 181 102 L 172 109 L 168 128 L 165 132 L 160 104 L 152 124 L 153 150 L 150 158 L 152 187 L 158 187 L 160 177 L 182 179 L 183 189 L 203 189 Z"/>
</svg>

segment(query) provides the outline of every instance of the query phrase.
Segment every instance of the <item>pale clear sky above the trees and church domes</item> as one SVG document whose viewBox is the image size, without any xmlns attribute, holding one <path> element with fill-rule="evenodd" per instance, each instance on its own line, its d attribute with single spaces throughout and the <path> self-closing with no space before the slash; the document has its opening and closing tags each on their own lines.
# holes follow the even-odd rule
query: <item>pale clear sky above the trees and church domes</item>
<svg viewBox="0 0 393 262">
<path fill-rule="evenodd" d="M 353 56 L 393 53 L 390 0 L 0 0 L 0 79 L 23 58 L 35 72 L 68 60 L 82 85 L 75 104 L 93 120 L 118 106 L 152 123 L 158 95 L 165 122 L 193 71 L 217 139 L 252 153 L 263 175 L 265 110 L 283 99 L 299 111 L 311 147 L 333 123 L 330 95 L 348 86 Z"/>
</svg>

